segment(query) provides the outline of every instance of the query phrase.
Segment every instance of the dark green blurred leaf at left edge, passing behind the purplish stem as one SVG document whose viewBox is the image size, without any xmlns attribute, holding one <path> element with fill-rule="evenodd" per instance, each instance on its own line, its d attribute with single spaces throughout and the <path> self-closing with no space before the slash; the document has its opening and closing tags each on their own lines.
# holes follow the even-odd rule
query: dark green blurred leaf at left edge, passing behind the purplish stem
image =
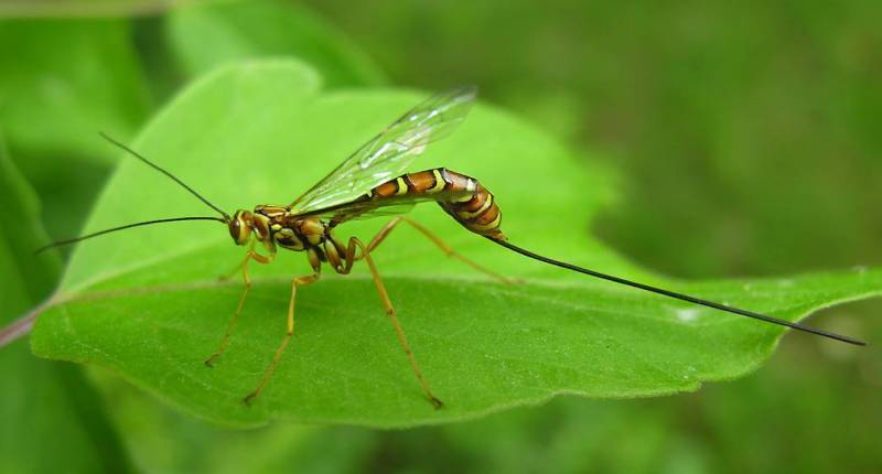
<svg viewBox="0 0 882 474">
<path fill-rule="evenodd" d="M 0 326 L 42 301 L 54 288 L 56 252 L 34 257 L 46 241 L 33 191 L 0 143 L 0 202 L 12 225 L 0 229 Z M 3 470 L 40 472 L 125 472 L 125 456 L 78 367 L 35 358 L 28 341 L 0 351 L 0 459 Z M 47 433 L 52 440 L 47 441 Z M 96 440 L 101 439 L 101 445 Z M 47 455 L 47 443 L 51 455 Z"/>
</svg>

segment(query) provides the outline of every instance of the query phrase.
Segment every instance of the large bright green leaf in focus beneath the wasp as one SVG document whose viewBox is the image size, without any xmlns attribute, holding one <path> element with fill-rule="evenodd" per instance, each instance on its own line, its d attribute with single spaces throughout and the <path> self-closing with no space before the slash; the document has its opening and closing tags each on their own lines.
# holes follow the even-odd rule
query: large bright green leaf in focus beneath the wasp
<svg viewBox="0 0 882 474">
<path fill-rule="evenodd" d="M 227 212 L 287 204 L 424 96 L 322 93 L 315 74 L 297 63 L 244 63 L 194 84 L 133 146 Z M 879 269 L 693 283 L 641 270 L 585 233 L 610 200 L 609 176 L 486 105 L 413 170 L 437 165 L 476 176 L 496 194 L 512 241 L 577 265 L 788 320 L 882 291 Z M 211 213 L 128 160 L 87 227 Z M 462 229 L 433 205 L 418 206 L 411 216 L 469 258 L 526 279 L 498 283 L 407 228 L 374 254 L 416 357 L 447 402 L 442 410 L 422 397 L 363 265 L 348 277 L 326 271 L 299 292 L 294 338 L 261 398 L 244 406 L 284 334 L 290 279 L 306 274 L 309 266 L 293 252 L 252 266 L 256 284 L 229 349 L 208 369 L 202 362 L 216 348 L 243 288 L 216 280 L 244 252 L 218 224 L 146 227 L 82 244 L 57 305 L 35 328 L 34 351 L 109 367 L 217 422 L 255 425 L 280 418 L 402 427 L 564 392 L 631 398 L 695 390 L 756 368 L 782 334 L 777 326 L 525 260 Z M 337 231 L 366 240 L 383 224 L 352 223 Z"/>
</svg>

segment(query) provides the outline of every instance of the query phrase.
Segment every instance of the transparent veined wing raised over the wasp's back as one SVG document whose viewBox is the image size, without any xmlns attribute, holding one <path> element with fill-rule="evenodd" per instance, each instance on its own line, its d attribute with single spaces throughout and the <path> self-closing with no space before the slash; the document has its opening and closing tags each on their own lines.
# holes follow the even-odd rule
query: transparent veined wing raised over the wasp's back
<svg viewBox="0 0 882 474">
<path fill-rule="evenodd" d="M 449 136 L 469 114 L 477 90 L 459 87 L 433 95 L 363 144 L 324 180 L 298 197 L 297 214 L 319 214 L 357 200 L 401 175 L 426 146 Z"/>
</svg>

